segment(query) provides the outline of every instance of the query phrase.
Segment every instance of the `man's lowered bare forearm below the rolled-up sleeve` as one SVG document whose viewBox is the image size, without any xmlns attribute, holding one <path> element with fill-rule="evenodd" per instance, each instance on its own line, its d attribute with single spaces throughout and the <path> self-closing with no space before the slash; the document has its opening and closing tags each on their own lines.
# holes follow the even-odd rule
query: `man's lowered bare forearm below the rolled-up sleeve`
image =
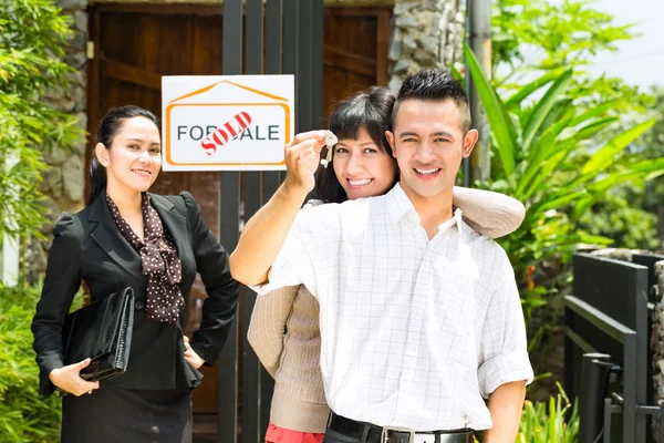
<svg viewBox="0 0 664 443">
<path fill-rule="evenodd" d="M 484 432 L 483 443 L 512 443 L 516 440 L 525 399 L 525 380 L 501 384 L 489 395 L 494 426 Z"/>
</svg>

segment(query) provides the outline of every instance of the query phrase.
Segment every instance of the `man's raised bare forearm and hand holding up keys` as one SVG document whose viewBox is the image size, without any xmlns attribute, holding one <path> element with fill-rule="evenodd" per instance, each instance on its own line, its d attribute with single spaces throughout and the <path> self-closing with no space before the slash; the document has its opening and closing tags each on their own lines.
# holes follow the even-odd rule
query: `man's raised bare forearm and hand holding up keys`
<svg viewBox="0 0 664 443">
<path fill-rule="evenodd" d="M 321 148 L 328 131 L 298 134 L 284 148 L 288 176 L 270 200 L 251 217 L 242 229 L 236 250 L 230 255 L 230 274 L 245 285 L 268 281 L 286 237 L 314 186 Z"/>
</svg>

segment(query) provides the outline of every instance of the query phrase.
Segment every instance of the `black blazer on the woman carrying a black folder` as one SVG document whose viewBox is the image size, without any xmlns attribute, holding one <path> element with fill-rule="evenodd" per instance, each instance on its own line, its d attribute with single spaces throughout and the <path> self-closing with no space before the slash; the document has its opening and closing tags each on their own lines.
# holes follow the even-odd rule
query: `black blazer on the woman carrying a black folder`
<svg viewBox="0 0 664 443">
<path fill-rule="evenodd" d="M 228 253 L 207 227 L 191 194 L 153 194 L 152 205 L 175 240 L 185 300 L 196 271 L 205 284 L 209 298 L 203 305 L 200 329 L 191 337 L 191 348 L 211 365 L 226 341 L 238 302 L 239 285 L 230 277 Z M 62 324 L 82 281 L 90 288 L 92 301 L 127 286 L 136 297 L 129 364 L 123 377 L 108 382 L 153 390 L 197 385 L 200 373 L 184 359 L 180 329 L 145 317 L 147 277 L 142 272 L 141 257 L 117 229 L 103 195 L 73 216 L 63 214 L 53 235 L 32 321 L 40 392 L 48 395 L 54 391 L 49 373 L 63 365 Z M 186 310 L 180 313 L 183 328 L 186 315 Z"/>
</svg>

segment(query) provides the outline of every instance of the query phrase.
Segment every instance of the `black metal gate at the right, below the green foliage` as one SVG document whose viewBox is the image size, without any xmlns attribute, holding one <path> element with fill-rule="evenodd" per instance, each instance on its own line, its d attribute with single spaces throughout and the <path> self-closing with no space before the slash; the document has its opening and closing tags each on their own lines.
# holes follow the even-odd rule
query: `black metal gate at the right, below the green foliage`
<svg viewBox="0 0 664 443">
<path fill-rule="evenodd" d="M 573 295 L 566 297 L 564 385 L 579 396 L 580 443 L 652 441 L 654 264 L 575 254 Z"/>
</svg>

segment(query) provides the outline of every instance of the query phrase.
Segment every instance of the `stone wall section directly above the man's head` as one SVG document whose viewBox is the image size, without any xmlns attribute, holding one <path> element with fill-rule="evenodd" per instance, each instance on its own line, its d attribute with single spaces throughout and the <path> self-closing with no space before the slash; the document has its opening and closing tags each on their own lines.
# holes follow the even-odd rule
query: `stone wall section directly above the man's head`
<svg viewBox="0 0 664 443">
<path fill-rule="evenodd" d="M 396 1 L 390 43 L 390 87 L 423 68 L 448 69 L 461 60 L 464 13 L 458 0 Z"/>
</svg>

